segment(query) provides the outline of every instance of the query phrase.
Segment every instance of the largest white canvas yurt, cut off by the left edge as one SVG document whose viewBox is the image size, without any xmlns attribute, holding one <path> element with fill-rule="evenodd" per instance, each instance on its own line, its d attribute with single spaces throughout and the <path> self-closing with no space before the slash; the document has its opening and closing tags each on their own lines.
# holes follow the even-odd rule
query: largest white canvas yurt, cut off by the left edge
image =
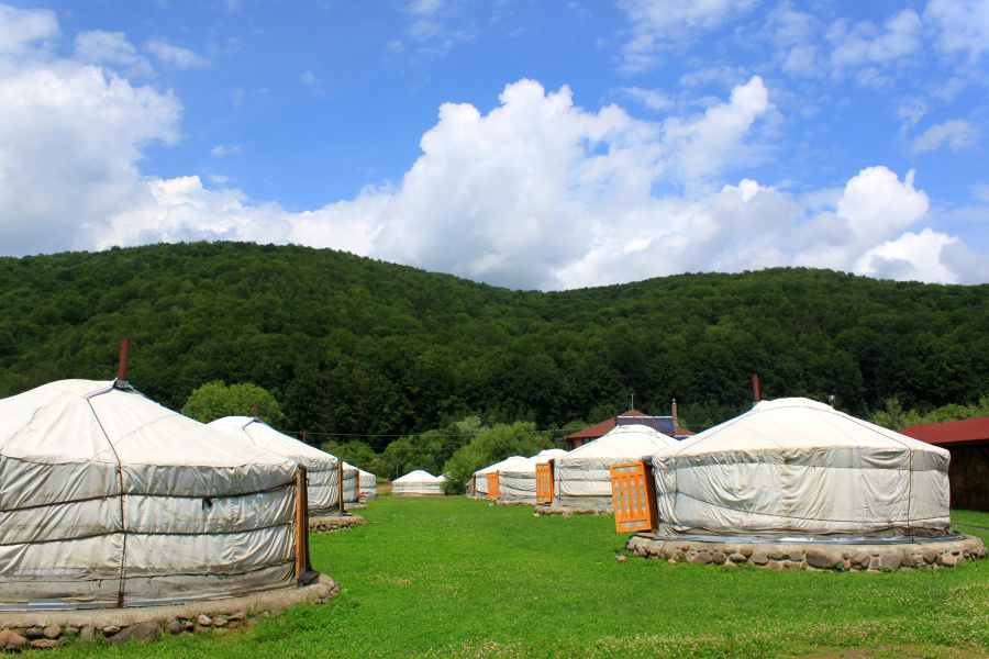
<svg viewBox="0 0 989 659">
<path fill-rule="evenodd" d="M 126 382 L 0 400 L 0 610 L 292 587 L 297 471 Z"/>
</svg>

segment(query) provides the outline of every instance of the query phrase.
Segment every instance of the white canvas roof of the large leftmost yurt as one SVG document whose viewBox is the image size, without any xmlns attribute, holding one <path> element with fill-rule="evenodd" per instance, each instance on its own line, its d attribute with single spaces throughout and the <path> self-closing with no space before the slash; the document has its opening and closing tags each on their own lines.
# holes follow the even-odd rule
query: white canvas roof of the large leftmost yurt
<svg viewBox="0 0 989 659">
<path fill-rule="evenodd" d="M 0 400 L 0 450 L 47 463 L 295 471 L 277 451 L 210 429 L 113 381 L 59 380 Z"/>
</svg>

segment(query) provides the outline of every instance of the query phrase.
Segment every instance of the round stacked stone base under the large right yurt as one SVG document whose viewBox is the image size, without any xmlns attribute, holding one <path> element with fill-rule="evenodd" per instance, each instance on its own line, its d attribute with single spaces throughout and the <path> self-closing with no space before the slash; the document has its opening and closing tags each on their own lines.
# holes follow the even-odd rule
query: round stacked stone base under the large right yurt
<svg viewBox="0 0 989 659">
<path fill-rule="evenodd" d="M 901 545 L 835 545 L 655 540 L 651 534 L 636 534 L 629 538 L 625 549 L 642 558 L 656 558 L 670 563 L 691 562 L 726 568 L 748 565 L 776 570 L 858 572 L 940 570 L 989 555 L 982 540 L 973 536 L 957 540 Z"/>
</svg>

